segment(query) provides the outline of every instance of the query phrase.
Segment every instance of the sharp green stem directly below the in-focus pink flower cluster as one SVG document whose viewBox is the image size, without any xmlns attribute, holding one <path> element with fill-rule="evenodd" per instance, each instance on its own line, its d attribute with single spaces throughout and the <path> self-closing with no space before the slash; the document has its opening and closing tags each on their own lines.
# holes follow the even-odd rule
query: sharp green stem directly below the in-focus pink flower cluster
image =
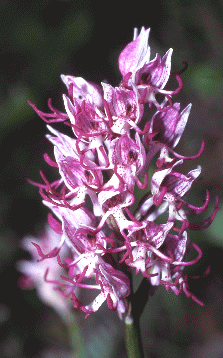
<svg viewBox="0 0 223 358">
<path fill-rule="evenodd" d="M 143 358 L 141 339 L 139 335 L 139 322 L 136 322 L 132 316 L 126 316 L 124 325 L 127 357 Z"/>
</svg>

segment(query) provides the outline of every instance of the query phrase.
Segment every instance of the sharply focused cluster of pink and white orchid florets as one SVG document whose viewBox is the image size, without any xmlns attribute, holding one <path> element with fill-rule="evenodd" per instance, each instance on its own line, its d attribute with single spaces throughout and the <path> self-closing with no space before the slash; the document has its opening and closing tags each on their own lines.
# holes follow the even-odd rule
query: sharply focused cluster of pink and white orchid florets
<svg viewBox="0 0 223 358">
<path fill-rule="evenodd" d="M 188 214 L 197 215 L 207 208 L 209 192 L 201 207 L 187 203 L 183 197 L 201 167 L 187 175 L 175 168 L 199 157 L 204 143 L 193 157 L 175 152 L 191 105 L 180 111 L 180 104 L 173 103 L 173 96 L 182 89 L 182 71 L 171 73 L 172 49 L 150 60 L 148 36 L 149 29 L 142 28 L 140 34 L 135 30 L 133 41 L 121 52 L 118 87 L 107 83 L 100 87 L 62 75 L 68 89 L 63 95 L 66 113 L 55 109 L 50 100 L 52 113 L 43 113 L 30 102 L 45 122 L 64 122 L 74 134 L 71 138 L 48 126 L 55 161 L 47 154 L 44 157 L 59 169 L 60 179 L 50 183 L 41 172 L 43 183 L 36 185 L 53 213 L 48 221 L 60 241 L 48 252 L 33 244 L 39 260 L 48 262 L 45 281 L 71 298 L 74 307 L 87 316 L 104 301 L 120 315 L 126 311 L 131 271 L 141 272 L 154 286 L 163 285 L 177 295 L 184 291 L 199 302 L 189 292 L 182 269 L 196 263 L 202 253 L 189 241 L 186 230 L 209 226 L 218 203 L 205 221 L 189 222 Z M 175 77 L 177 88 L 165 90 L 170 76 Z M 149 178 L 152 165 L 155 169 Z M 135 195 L 136 186 L 142 190 L 140 198 Z M 167 219 L 160 224 L 163 213 Z M 69 253 L 62 259 L 64 246 Z M 197 252 L 196 258 L 187 261 L 191 249 Z M 48 271 L 55 257 L 67 274 L 51 280 Z M 96 289 L 99 294 L 84 305 L 76 287 Z"/>
</svg>

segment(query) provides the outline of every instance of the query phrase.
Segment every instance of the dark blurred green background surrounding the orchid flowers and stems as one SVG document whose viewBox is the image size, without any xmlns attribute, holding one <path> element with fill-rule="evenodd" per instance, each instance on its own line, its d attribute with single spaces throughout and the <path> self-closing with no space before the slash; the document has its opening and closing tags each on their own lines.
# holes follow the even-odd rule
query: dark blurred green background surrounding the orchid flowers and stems
<svg viewBox="0 0 223 358">
<path fill-rule="evenodd" d="M 45 124 L 27 99 L 47 111 L 52 98 L 63 110 L 62 73 L 118 85 L 118 55 L 131 41 L 133 28 L 151 27 L 152 58 L 172 47 L 173 72 L 183 61 L 189 64 L 175 101 L 181 108 L 193 106 L 177 151 L 192 155 L 205 139 L 202 157 L 184 168 L 202 165 L 202 180 L 189 199 L 201 205 L 208 188 L 211 213 L 215 195 L 222 204 L 223 188 L 223 2 L 1 0 L 0 23 L 0 355 L 71 357 L 66 327 L 57 314 L 39 301 L 35 290 L 23 292 L 17 286 L 15 263 L 27 257 L 20 240 L 38 236 L 48 212 L 27 178 L 39 181 L 40 169 L 54 176 L 43 160 L 45 152 L 53 155 Z M 146 357 L 223 357 L 223 208 L 209 229 L 190 236 L 204 255 L 189 272 L 202 275 L 211 267 L 210 275 L 189 281 L 205 306 L 158 289 L 141 320 Z M 77 319 L 87 358 L 125 357 L 116 313 L 103 306 L 87 320 L 81 313 Z"/>
</svg>

